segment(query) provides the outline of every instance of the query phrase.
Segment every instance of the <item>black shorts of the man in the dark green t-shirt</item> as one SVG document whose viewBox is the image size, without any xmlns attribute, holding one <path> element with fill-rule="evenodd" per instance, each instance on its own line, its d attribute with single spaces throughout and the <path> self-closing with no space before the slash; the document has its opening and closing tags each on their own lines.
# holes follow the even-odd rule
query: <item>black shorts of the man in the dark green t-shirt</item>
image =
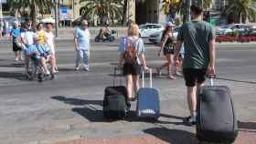
<svg viewBox="0 0 256 144">
<path fill-rule="evenodd" d="M 183 68 L 183 75 L 187 87 L 194 87 L 206 80 L 207 69 Z"/>
</svg>

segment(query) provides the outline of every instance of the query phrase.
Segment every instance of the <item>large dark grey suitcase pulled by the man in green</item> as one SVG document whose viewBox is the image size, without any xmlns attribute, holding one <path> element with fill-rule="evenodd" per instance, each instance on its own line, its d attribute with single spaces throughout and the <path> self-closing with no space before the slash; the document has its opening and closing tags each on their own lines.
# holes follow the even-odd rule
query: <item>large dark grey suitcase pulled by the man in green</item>
<svg viewBox="0 0 256 144">
<path fill-rule="evenodd" d="M 210 86 L 199 89 L 197 96 L 197 139 L 232 143 L 237 138 L 237 120 L 229 87 Z"/>
</svg>

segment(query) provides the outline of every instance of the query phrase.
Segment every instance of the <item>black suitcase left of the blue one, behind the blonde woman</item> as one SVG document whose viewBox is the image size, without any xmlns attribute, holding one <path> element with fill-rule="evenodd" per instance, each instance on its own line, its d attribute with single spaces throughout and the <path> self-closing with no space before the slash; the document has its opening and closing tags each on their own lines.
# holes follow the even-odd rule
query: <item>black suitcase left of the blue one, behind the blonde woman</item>
<svg viewBox="0 0 256 144">
<path fill-rule="evenodd" d="M 106 87 L 104 90 L 102 109 L 104 118 L 125 118 L 129 110 L 126 87 L 115 86 L 116 71 L 117 67 L 114 67 L 113 86 Z"/>
</svg>

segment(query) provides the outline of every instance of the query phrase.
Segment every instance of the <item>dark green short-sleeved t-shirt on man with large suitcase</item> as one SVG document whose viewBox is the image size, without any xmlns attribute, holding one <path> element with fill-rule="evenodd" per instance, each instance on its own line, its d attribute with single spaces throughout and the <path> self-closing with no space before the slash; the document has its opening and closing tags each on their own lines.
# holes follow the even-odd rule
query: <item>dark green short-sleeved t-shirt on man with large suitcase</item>
<svg viewBox="0 0 256 144">
<path fill-rule="evenodd" d="M 207 22 L 191 21 L 181 26 L 177 40 L 185 46 L 183 68 L 207 68 L 209 41 L 214 37 L 213 28 Z"/>
</svg>

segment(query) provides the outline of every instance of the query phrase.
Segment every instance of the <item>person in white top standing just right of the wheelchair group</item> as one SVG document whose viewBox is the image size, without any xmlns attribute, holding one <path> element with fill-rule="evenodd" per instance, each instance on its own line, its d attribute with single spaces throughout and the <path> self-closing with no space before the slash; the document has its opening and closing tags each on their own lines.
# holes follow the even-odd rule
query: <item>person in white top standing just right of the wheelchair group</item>
<svg viewBox="0 0 256 144">
<path fill-rule="evenodd" d="M 52 33 L 53 24 L 47 23 L 46 24 L 46 31 L 44 33 L 46 39 L 46 46 L 49 49 L 50 57 L 51 57 L 51 70 L 52 73 L 57 73 L 57 66 L 56 66 L 56 56 L 55 56 L 55 46 L 54 46 L 54 35 Z"/>
</svg>

